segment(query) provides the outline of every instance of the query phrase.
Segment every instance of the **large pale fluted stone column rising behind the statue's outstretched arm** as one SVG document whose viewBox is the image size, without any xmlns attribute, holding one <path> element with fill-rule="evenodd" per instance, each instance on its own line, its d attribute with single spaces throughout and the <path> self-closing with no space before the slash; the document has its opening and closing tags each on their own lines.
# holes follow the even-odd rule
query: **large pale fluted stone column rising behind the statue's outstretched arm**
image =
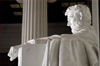
<svg viewBox="0 0 100 66">
<path fill-rule="evenodd" d="M 47 36 L 47 0 L 23 0 L 22 44 Z"/>
</svg>

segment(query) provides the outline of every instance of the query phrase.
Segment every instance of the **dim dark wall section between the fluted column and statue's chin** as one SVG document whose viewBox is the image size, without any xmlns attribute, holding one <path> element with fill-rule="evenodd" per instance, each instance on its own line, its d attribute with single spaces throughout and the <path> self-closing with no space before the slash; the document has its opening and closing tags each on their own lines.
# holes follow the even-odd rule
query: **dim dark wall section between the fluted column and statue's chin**
<svg viewBox="0 0 100 66">
<path fill-rule="evenodd" d="M 67 22 L 48 23 L 48 36 L 72 34 L 71 28 L 67 26 Z"/>
</svg>

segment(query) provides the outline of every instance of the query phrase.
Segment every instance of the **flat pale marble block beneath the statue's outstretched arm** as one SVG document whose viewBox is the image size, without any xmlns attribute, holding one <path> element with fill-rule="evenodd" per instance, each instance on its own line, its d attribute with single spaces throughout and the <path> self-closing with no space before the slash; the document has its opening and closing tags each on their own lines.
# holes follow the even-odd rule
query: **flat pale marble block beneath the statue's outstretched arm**
<svg viewBox="0 0 100 66">
<path fill-rule="evenodd" d="M 22 47 L 22 64 L 19 66 L 42 66 L 46 44 L 28 44 Z"/>
</svg>

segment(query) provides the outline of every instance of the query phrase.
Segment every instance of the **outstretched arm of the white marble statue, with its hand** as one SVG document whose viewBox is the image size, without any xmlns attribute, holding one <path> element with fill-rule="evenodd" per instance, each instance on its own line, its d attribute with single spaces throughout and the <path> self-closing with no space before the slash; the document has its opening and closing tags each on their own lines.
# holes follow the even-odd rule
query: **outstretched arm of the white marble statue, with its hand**
<svg viewBox="0 0 100 66">
<path fill-rule="evenodd" d="M 43 38 L 29 40 L 27 43 L 22 44 L 22 45 L 11 46 L 10 50 L 8 52 L 8 56 L 10 57 L 10 61 L 13 61 L 15 58 L 18 57 L 18 53 L 20 51 L 19 49 L 22 48 L 23 45 L 26 45 L 26 44 L 47 44 L 48 40 L 59 39 L 59 38 L 61 38 L 59 35 L 52 35 L 49 37 L 43 37 Z"/>
</svg>

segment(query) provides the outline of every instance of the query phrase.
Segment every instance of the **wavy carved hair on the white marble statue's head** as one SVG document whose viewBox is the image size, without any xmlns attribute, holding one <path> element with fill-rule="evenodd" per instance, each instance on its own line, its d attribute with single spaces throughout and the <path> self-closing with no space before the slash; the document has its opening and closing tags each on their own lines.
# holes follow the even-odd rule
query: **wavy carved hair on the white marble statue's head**
<svg viewBox="0 0 100 66">
<path fill-rule="evenodd" d="M 69 11 L 79 13 L 80 20 L 83 19 L 85 22 L 91 24 L 91 14 L 87 5 L 78 4 L 78 5 L 70 6 L 67 8 L 65 12 L 65 16 L 68 15 Z"/>
</svg>

